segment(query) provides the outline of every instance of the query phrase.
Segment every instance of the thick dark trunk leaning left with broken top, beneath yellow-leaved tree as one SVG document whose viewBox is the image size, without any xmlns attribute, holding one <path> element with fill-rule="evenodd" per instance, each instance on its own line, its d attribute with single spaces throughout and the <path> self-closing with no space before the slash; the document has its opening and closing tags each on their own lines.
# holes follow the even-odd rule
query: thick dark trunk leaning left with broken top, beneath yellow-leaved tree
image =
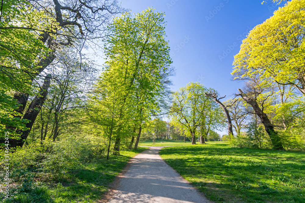
<svg viewBox="0 0 305 203">
<path fill-rule="evenodd" d="M 242 99 L 253 107 L 254 112 L 260 118 L 260 121 L 263 123 L 265 130 L 271 139 L 274 149 L 284 149 L 281 138 L 278 136 L 277 132 L 274 131 L 274 125 L 271 124 L 269 118 L 267 117 L 267 114 L 265 114 L 263 110 L 260 109 L 257 101 L 247 97 L 241 89 L 238 89 L 238 91 L 240 92 L 240 96 L 242 96 Z"/>
</svg>

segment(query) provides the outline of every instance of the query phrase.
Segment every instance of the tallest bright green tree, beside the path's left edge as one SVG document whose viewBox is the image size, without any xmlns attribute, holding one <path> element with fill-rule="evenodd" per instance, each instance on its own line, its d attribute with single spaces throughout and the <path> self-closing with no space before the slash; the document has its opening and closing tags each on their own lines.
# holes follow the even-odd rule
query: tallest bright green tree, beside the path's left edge
<svg viewBox="0 0 305 203">
<path fill-rule="evenodd" d="M 121 81 L 122 87 L 124 86 L 120 92 L 122 100 L 121 110 L 118 112 L 121 119 L 124 112 L 128 111 L 128 102 L 135 101 L 133 113 L 137 114 L 135 122 L 139 130 L 135 149 L 142 132 L 142 123 L 149 120 L 150 111 L 159 109 L 156 97 L 159 97 L 167 86 L 167 83 L 162 81 L 168 80 L 168 68 L 172 63 L 168 42 L 165 41 L 164 13 L 154 11 L 155 9 L 149 8 L 136 14 L 134 18 L 130 13 L 126 13 L 114 19 L 104 40 L 105 72 L 109 73 L 109 77 L 120 72 L 117 79 Z M 123 128 L 122 126 L 120 130 L 123 131 Z M 120 138 L 120 135 L 116 137 L 116 153 L 120 150 Z"/>
</svg>

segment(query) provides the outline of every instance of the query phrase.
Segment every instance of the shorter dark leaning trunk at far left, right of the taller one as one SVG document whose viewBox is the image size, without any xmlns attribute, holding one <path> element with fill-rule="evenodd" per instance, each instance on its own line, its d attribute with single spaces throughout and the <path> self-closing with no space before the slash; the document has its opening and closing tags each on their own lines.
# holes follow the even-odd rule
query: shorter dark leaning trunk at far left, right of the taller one
<svg viewBox="0 0 305 203">
<path fill-rule="evenodd" d="M 27 137 L 33 127 L 33 124 L 35 122 L 35 119 L 38 116 L 39 111 L 47 98 L 48 88 L 50 86 L 50 76 L 51 75 L 47 75 L 45 77 L 45 81 L 40 89 L 41 90 L 40 94 L 37 95 L 34 98 L 34 100 L 30 103 L 29 107 L 27 108 L 26 113 L 23 116 L 23 119 L 27 119 L 30 121 L 26 124 L 27 130 L 25 130 L 25 131 L 17 130 L 17 132 L 21 134 L 20 139 L 19 140 L 16 140 L 16 139 L 10 140 L 9 141 L 10 147 L 17 147 L 17 146 L 22 147 L 25 140 L 27 139 Z"/>
</svg>

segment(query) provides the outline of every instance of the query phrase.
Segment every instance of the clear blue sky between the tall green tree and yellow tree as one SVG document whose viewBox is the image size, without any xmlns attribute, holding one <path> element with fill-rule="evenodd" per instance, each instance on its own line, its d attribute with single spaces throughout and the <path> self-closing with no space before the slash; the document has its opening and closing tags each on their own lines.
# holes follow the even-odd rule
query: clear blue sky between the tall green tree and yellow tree
<svg viewBox="0 0 305 203">
<path fill-rule="evenodd" d="M 167 40 L 177 69 L 172 78 L 173 90 L 188 82 L 200 82 L 228 98 L 243 86 L 241 82 L 231 81 L 232 62 L 242 39 L 278 9 L 275 4 L 262 5 L 261 2 L 122 0 L 121 5 L 131 9 L 131 13 L 142 12 L 151 6 L 158 12 L 165 12 Z"/>
</svg>

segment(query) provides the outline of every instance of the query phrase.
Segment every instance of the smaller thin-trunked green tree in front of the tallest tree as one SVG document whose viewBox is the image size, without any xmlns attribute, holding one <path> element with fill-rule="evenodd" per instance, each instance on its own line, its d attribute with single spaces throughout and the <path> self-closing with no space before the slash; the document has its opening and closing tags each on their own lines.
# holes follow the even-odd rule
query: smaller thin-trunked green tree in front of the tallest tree
<svg viewBox="0 0 305 203">
<path fill-rule="evenodd" d="M 131 114 L 135 111 L 134 100 L 131 97 L 124 98 L 126 84 L 121 74 L 124 72 L 103 72 L 89 95 L 88 123 L 101 129 L 99 135 L 108 139 L 107 159 L 113 139 L 121 137 L 124 130 L 132 126 Z"/>
</svg>

